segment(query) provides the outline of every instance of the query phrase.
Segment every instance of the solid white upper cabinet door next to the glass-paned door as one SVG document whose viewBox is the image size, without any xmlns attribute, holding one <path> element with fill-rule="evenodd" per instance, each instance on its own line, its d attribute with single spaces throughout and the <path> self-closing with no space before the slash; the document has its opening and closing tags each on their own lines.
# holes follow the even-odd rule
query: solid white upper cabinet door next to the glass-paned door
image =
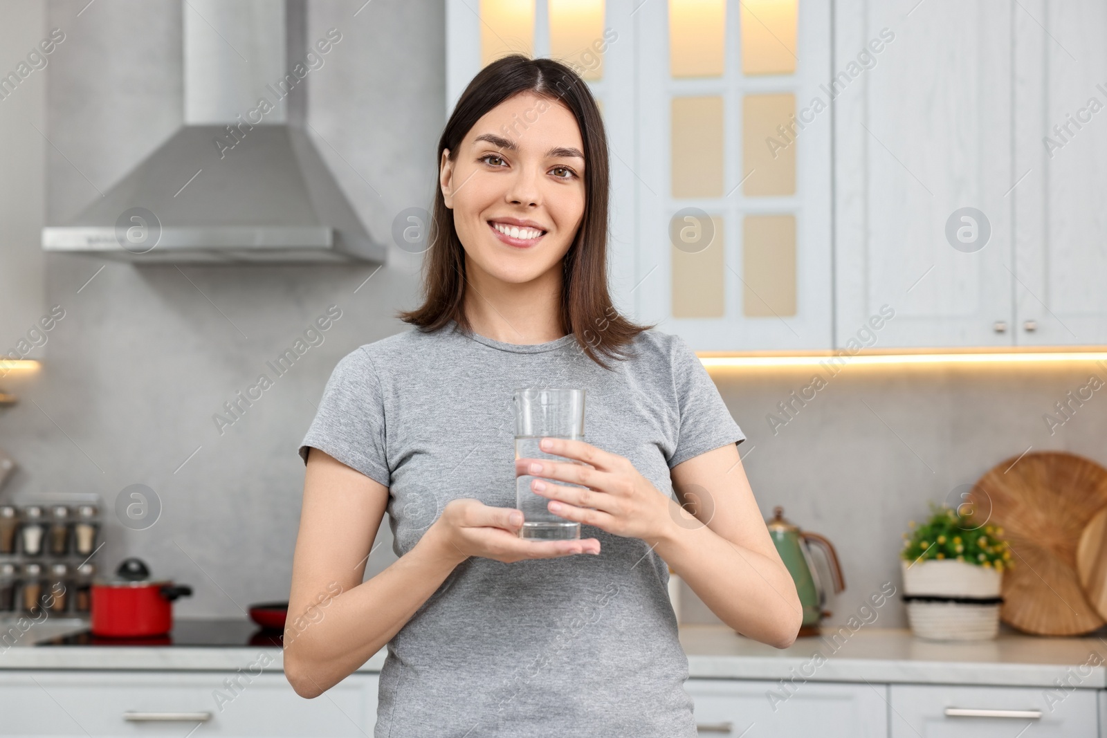
<svg viewBox="0 0 1107 738">
<path fill-rule="evenodd" d="M 835 3 L 836 75 L 883 41 L 835 101 L 839 345 L 883 304 L 896 315 L 876 347 L 1011 345 L 1015 12 L 956 0 Z M 961 208 L 984 214 L 986 242 L 985 221 L 974 231 L 960 214 L 956 248 L 948 239 Z"/>
</svg>

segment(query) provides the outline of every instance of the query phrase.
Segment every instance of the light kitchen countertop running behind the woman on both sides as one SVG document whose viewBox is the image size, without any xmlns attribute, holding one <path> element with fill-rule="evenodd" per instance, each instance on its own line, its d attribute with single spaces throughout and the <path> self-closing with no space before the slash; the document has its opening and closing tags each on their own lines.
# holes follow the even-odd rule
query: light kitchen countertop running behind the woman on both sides
<svg viewBox="0 0 1107 738">
<path fill-rule="evenodd" d="M 279 647 L 247 645 L 248 638 L 242 645 L 218 646 L 32 645 L 84 627 L 74 622 L 37 624 L 14 645 L 0 643 L 0 669 L 235 671 L 255 664 L 262 652 L 273 658 L 268 668 L 281 668 Z M 739 636 L 725 625 L 683 625 L 680 637 L 689 675 L 699 678 L 1024 687 L 1055 687 L 1055 680 L 1068 679 L 1080 688 L 1107 687 L 1107 642 L 1097 637 L 1001 632 L 994 641 L 959 644 L 922 641 L 906 628 L 841 632 L 846 635 L 835 641 L 835 631 L 824 628 L 821 637 L 797 638 L 784 649 Z M 380 672 L 384 656 L 382 648 L 358 671 Z M 1085 668 L 1077 672 L 1080 666 Z"/>
</svg>

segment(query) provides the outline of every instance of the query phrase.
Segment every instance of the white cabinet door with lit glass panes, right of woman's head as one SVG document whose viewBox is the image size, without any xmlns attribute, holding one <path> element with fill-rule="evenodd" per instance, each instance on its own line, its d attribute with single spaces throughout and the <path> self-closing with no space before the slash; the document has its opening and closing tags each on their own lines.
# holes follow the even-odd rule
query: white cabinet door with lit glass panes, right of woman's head
<svg viewBox="0 0 1107 738">
<path fill-rule="evenodd" d="M 637 318 L 697 351 L 831 346 L 829 4 L 633 12 Z"/>
</svg>

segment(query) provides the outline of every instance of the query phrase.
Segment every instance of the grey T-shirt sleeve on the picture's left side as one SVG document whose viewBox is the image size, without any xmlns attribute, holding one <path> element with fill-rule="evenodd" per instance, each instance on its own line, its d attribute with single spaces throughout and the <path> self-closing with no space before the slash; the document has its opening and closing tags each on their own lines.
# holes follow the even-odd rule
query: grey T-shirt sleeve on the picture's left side
<svg viewBox="0 0 1107 738">
<path fill-rule="evenodd" d="M 300 445 L 300 458 L 307 464 L 308 448 L 314 447 L 389 487 L 384 430 L 380 378 L 361 347 L 343 356 L 331 372 L 315 418 Z"/>
</svg>

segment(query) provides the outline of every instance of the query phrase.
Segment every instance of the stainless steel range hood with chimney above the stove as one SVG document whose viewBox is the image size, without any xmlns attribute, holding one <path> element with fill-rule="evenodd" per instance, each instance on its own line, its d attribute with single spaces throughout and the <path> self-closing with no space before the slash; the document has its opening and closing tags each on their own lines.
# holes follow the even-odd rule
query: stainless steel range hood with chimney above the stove
<svg viewBox="0 0 1107 738">
<path fill-rule="evenodd" d="M 304 87 L 325 74 L 333 37 L 306 44 L 303 0 L 182 0 L 182 13 L 185 125 L 43 228 L 42 248 L 136 263 L 384 262 L 303 129 Z"/>
</svg>

